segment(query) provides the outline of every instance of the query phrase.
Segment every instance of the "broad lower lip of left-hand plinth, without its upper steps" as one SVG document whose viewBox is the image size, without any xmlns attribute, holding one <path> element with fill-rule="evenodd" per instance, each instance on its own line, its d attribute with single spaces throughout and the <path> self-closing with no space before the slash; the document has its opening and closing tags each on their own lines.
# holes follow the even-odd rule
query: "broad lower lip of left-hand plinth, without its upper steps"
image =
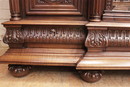
<svg viewBox="0 0 130 87">
<path fill-rule="evenodd" d="M 49 65 L 49 66 L 76 66 L 80 57 L 65 56 L 14 56 L 3 55 L 0 57 L 1 64 L 26 64 L 26 65 Z"/>
</svg>

